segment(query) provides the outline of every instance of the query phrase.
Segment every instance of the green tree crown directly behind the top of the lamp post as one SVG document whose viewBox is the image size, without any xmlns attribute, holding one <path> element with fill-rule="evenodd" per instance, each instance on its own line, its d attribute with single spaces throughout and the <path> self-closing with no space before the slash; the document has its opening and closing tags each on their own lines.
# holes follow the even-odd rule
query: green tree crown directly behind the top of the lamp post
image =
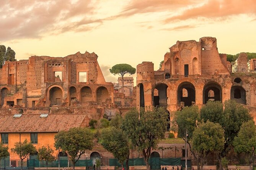
<svg viewBox="0 0 256 170">
<path fill-rule="evenodd" d="M 196 122 L 199 120 L 199 109 L 197 106 L 184 107 L 181 111 L 174 113 L 173 123 L 176 123 L 178 129 L 172 128 L 174 132 L 178 132 L 180 138 L 184 138 L 185 129 L 187 129 L 188 140 L 192 140 L 193 132 L 196 128 Z"/>
</svg>

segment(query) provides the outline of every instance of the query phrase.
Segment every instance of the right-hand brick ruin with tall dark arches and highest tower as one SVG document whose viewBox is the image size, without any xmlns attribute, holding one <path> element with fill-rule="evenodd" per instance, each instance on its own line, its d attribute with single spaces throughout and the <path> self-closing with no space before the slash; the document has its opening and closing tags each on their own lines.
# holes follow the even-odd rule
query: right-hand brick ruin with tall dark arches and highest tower
<svg viewBox="0 0 256 170">
<path fill-rule="evenodd" d="M 246 53 L 241 53 L 232 73 L 227 55 L 218 53 L 216 38 L 177 41 L 158 71 L 152 62 L 137 65 L 137 108 L 162 106 L 172 112 L 228 99 L 256 107 L 256 62 L 251 59 L 249 70 L 247 62 Z"/>
</svg>

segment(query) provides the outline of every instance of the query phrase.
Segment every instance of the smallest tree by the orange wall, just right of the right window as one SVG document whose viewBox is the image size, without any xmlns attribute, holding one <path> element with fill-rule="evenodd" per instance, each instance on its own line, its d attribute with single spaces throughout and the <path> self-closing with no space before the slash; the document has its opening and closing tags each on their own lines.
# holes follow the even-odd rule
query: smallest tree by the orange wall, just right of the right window
<svg viewBox="0 0 256 170">
<path fill-rule="evenodd" d="M 52 148 L 49 147 L 49 145 L 47 145 L 47 148 L 45 146 L 42 146 L 42 148 L 38 148 L 38 159 L 45 160 L 47 170 L 48 162 L 52 162 L 56 159 L 56 157 L 52 155 L 53 153 L 54 151 Z"/>
</svg>

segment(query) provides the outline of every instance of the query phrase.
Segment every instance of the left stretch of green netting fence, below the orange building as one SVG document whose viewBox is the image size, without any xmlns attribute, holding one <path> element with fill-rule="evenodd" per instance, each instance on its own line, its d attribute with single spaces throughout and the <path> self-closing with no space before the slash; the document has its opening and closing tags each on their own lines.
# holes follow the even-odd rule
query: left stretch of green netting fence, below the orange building
<svg viewBox="0 0 256 170">
<path fill-rule="evenodd" d="M 28 163 L 29 168 L 46 167 L 46 162 L 44 160 L 39 161 L 38 159 L 30 159 L 28 162 L 29 162 Z M 72 162 L 69 161 L 69 167 L 72 167 L 72 166 L 73 166 Z M 93 166 L 93 160 L 92 159 L 78 160 L 75 166 L 76 167 Z M 49 162 L 48 167 L 59 167 L 58 160 Z M 60 160 L 60 167 L 68 167 L 68 160 Z"/>
</svg>

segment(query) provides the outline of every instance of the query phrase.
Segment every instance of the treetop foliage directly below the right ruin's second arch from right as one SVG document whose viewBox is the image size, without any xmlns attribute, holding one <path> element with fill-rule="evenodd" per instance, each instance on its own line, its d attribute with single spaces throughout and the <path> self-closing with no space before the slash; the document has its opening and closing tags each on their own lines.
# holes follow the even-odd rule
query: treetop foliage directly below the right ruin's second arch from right
<svg viewBox="0 0 256 170">
<path fill-rule="evenodd" d="M 201 108 L 201 119 L 206 122 L 220 123 L 222 119 L 223 104 L 220 101 L 207 101 Z"/>
</svg>

